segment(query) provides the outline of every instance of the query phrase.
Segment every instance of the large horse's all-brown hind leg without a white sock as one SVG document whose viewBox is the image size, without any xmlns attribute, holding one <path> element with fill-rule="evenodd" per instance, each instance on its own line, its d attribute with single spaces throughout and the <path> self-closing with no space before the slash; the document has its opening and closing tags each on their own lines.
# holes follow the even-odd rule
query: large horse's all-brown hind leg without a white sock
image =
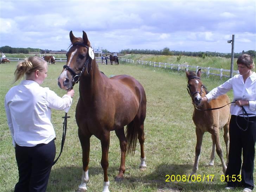
<svg viewBox="0 0 256 192">
<path fill-rule="evenodd" d="M 124 128 L 115 130 L 116 136 L 119 139 L 120 142 L 120 148 L 121 148 L 121 164 L 119 168 L 119 173 L 115 178 L 115 181 L 122 181 L 123 180 L 123 174 L 125 172 L 125 156 L 127 151 L 127 139 L 124 134 Z"/>
</svg>

